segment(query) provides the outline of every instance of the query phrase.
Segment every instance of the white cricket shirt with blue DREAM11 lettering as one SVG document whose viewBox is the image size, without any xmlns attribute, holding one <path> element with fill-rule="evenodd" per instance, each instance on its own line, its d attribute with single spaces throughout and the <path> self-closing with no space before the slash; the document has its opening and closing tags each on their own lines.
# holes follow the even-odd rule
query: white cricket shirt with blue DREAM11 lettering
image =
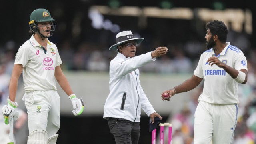
<svg viewBox="0 0 256 144">
<path fill-rule="evenodd" d="M 211 104 L 238 104 L 238 82 L 223 68 L 219 68 L 216 64 L 210 66 L 207 60 L 211 56 L 216 56 L 213 48 L 201 54 L 194 71 L 195 76 L 204 78 L 204 90 L 198 100 Z M 244 53 L 230 43 L 227 43 L 217 57 L 221 62 L 236 70 L 247 70 Z"/>
</svg>

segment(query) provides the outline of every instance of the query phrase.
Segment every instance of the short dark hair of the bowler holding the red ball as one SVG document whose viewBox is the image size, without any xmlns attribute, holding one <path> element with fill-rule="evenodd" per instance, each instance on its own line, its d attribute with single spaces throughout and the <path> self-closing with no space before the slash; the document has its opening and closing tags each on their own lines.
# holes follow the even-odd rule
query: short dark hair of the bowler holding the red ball
<svg viewBox="0 0 256 144">
<path fill-rule="evenodd" d="M 211 22 L 208 22 L 205 25 L 206 30 L 210 30 L 210 32 L 212 33 L 212 36 L 217 35 L 218 39 L 221 42 L 226 42 L 227 40 L 227 35 L 228 35 L 228 28 L 227 26 L 224 24 L 224 22 L 220 21 L 220 20 L 214 20 Z"/>
</svg>

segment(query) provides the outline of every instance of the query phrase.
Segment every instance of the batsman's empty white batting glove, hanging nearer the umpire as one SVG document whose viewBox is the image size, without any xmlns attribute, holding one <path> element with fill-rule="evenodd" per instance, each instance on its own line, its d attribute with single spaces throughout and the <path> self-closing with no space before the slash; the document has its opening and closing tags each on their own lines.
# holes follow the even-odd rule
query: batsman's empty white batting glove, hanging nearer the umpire
<svg viewBox="0 0 256 144">
<path fill-rule="evenodd" d="M 72 110 L 75 116 L 79 116 L 84 111 L 84 102 L 81 98 L 77 98 L 75 94 L 70 94 L 68 98 L 71 100 L 74 110 Z"/>
</svg>

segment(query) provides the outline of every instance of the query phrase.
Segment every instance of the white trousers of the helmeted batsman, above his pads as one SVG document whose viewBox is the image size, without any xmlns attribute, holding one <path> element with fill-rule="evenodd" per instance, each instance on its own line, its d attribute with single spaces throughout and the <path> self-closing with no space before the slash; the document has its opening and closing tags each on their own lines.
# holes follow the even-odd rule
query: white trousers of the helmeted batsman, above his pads
<svg viewBox="0 0 256 144">
<path fill-rule="evenodd" d="M 35 91 L 23 96 L 28 113 L 29 133 L 45 130 L 48 137 L 60 129 L 60 96 L 57 91 Z"/>
</svg>

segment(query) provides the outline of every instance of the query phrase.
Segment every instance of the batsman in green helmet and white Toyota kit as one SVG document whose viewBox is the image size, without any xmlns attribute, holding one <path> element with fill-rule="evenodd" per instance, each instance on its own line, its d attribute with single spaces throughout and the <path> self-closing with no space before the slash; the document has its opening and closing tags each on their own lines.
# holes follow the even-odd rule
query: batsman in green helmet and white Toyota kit
<svg viewBox="0 0 256 144">
<path fill-rule="evenodd" d="M 27 144 L 56 144 L 60 128 L 60 96 L 56 83 L 70 98 L 75 116 L 82 114 L 84 104 L 72 91 L 60 64 L 62 61 L 56 45 L 48 40 L 55 30 L 48 10 L 39 8 L 30 15 L 31 38 L 27 40 L 15 56 L 15 63 L 9 85 L 8 104 L 2 108 L 5 123 L 10 119 L 18 106 L 15 102 L 18 79 L 23 72 L 25 102 L 28 113 L 29 136 Z"/>
</svg>

